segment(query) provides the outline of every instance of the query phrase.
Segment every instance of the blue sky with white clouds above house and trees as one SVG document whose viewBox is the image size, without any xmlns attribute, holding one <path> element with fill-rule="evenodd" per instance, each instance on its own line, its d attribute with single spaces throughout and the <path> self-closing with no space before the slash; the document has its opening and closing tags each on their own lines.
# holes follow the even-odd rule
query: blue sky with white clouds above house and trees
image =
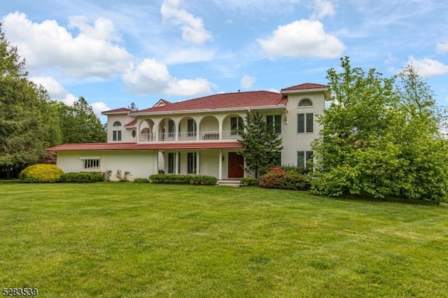
<svg viewBox="0 0 448 298">
<path fill-rule="evenodd" d="M 385 76 L 412 63 L 448 104 L 445 0 L 15 0 L 0 17 L 31 80 L 97 113 L 325 84 L 343 56 Z"/>
</svg>

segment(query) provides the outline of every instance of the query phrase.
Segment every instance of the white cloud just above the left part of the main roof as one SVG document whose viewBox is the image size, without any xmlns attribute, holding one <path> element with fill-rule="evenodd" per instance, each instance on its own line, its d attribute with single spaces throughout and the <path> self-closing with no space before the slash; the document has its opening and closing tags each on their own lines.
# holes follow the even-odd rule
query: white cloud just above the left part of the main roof
<svg viewBox="0 0 448 298">
<path fill-rule="evenodd" d="M 135 94 L 165 93 L 170 95 L 197 95 L 211 91 L 211 83 L 204 78 L 178 79 L 169 74 L 167 66 L 155 59 L 145 59 L 132 66 L 123 76 L 127 89 Z"/>
</svg>

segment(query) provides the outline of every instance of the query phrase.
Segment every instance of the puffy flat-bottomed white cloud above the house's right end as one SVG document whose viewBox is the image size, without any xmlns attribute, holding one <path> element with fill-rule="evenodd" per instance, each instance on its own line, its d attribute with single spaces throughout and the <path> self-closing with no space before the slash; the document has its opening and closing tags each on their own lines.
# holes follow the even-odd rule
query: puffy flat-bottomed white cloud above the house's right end
<svg viewBox="0 0 448 298">
<path fill-rule="evenodd" d="M 297 20 L 279 26 L 267 39 L 257 39 L 271 59 L 286 57 L 340 57 L 345 45 L 336 36 L 325 33 L 317 20 Z"/>
</svg>

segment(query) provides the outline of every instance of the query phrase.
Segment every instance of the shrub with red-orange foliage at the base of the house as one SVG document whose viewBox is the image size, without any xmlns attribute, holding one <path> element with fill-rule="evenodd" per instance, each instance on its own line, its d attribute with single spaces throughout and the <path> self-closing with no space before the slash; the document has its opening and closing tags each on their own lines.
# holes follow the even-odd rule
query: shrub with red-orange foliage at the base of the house
<svg viewBox="0 0 448 298">
<path fill-rule="evenodd" d="M 276 166 L 269 166 L 269 173 L 261 176 L 261 185 L 280 190 L 309 190 L 307 176 L 295 170 L 284 170 Z"/>
</svg>

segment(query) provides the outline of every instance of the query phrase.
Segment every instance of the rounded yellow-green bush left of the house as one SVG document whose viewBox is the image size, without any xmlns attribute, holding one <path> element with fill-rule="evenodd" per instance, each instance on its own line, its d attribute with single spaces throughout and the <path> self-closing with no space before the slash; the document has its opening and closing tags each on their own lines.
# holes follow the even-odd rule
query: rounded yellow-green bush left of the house
<svg viewBox="0 0 448 298">
<path fill-rule="evenodd" d="M 26 183 L 55 183 L 64 173 L 54 164 L 34 164 L 20 173 L 20 180 Z"/>
</svg>

